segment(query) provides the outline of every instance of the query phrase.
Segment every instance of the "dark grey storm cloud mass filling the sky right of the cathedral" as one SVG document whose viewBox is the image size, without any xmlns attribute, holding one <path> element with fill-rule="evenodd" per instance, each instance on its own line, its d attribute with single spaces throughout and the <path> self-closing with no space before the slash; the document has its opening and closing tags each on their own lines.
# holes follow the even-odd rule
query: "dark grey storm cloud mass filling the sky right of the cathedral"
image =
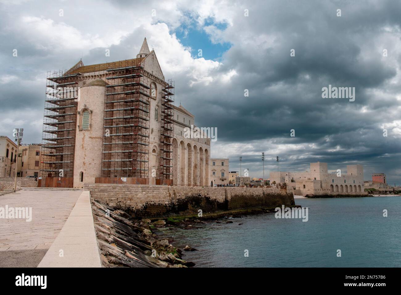
<svg viewBox="0 0 401 295">
<path fill-rule="evenodd" d="M 393 26 L 393 37 L 399 38 L 400 4 L 386 2 L 377 7 L 371 5 L 376 2 L 286 3 L 291 4 L 254 4 L 257 9 L 249 9 L 249 18 L 235 18 L 228 30 L 240 32 L 240 38 L 224 55 L 223 64 L 239 75 L 231 80 L 230 88 L 213 87 L 204 92 L 207 104 L 196 107 L 198 122 L 208 122 L 213 117 L 222 145 L 242 142 L 255 147 L 257 141 L 265 139 L 275 145 L 315 145 L 305 150 L 287 147 L 279 155 L 283 162 L 280 170 L 303 171 L 318 160 L 328 162 L 329 169 L 331 165 L 345 168 L 357 162 L 365 165 L 365 179 L 372 172 L 386 170 L 399 181 L 400 136 L 383 137 L 380 126 L 399 120 L 390 110 L 400 105 L 396 99 L 400 87 L 390 85 L 389 80 L 397 75 L 400 56 L 384 28 Z M 342 9 L 341 17 L 336 16 L 337 8 Z M 252 24 L 248 25 L 248 21 Z M 241 38 L 248 38 L 244 31 L 250 28 L 254 28 L 255 46 L 241 42 Z M 258 43 L 258 34 L 274 41 L 268 45 Z M 296 57 L 290 57 L 292 48 Z M 397 63 L 383 60 L 383 48 L 392 52 Z M 329 84 L 355 87 L 356 100 L 351 103 L 322 99 L 321 89 Z M 249 89 L 249 97 L 243 97 L 244 89 Z M 388 93 L 389 89 L 392 93 Z M 201 87 L 192 89 L 190 97 L 201 91 Z M 195 105 L 196 101 L 191 101 L 189 108 Z M 295 138 L 290 138 L 290 129 L 296 130 Z M 326 136 L 330 141 L 322 140 Z M 269 154 L 268 146 L 259 146 L 260 152 Z M 239 168 L 239 156 L 245 155 L 243 164 L 253 166 L 258 172 L 254 175 L 261 176 L 260 156 L 254 152 L 245 149 L 232 155 L 233 170 Z M 383 158 L 385 154 L 390 156 Z M 305 157 L 290 160 L 290 155 Z M 275 154 L 269 156 L 275 158 Z M 274 166 L 273 161 L 268 168 Z"/>
</svg>

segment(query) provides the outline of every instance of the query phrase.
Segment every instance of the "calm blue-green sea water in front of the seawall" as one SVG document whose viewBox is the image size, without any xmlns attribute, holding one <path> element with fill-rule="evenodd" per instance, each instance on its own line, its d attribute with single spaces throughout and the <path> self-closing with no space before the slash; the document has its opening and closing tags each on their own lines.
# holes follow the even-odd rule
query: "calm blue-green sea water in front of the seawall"
<svg viewBox="0 0 401 295">
<path fill-rule="evenodd" d="M 307 222 L 266 213 L 166 234 L 176 247 L 198 249 L 183 252 L 195 267 L 401 267 L 400 196 L 295 202 L 309 208 Z"/>
</svg>

